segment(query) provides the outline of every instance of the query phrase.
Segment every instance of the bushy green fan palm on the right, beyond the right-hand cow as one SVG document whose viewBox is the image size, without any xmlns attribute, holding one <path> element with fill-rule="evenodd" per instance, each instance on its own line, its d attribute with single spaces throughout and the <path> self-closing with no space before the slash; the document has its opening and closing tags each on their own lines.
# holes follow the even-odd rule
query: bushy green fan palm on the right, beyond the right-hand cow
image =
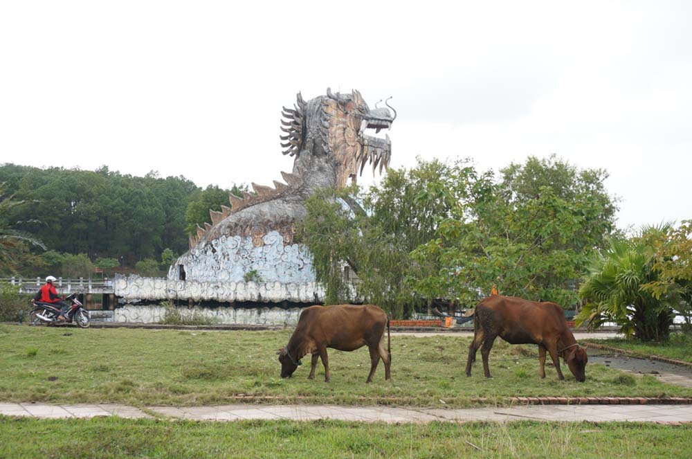
<svg viewBox="0 0 692 459">
<path fill-rule="evenodd" d="M 623 334 L 644 341 L 668 338 L 673 324 L 672 298 L 655 298 L 641 288 L 658 276 L 652 269 L 653 250 L 645 240 L 655 233 L 664 234 L 666 228 L 644 228 L 638 237 L 612 240 L 594 257 L 579 289 L 585 305 L 575 318 L 577 325 L 588 322 L 595 328 L 615 323 Z"/>
</svg>

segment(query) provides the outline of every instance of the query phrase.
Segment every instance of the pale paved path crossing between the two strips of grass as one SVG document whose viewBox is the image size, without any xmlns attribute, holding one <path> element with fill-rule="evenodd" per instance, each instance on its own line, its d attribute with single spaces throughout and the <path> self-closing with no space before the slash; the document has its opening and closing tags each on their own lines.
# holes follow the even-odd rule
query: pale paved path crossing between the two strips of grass
<svg viewBox="0 0 692 459">
<path fill-rule="evenodd" d="M 140 410 L 131 406 L 115 404 L 0 403 L 0 415 L 41 419 L 117 415 L 127 418 L 165 417 L 212 421 L 333 419 L 360 422 L 511 422 L 538 420 L 633 421 L 678 424 L 692 422 L 692 405 L 539 405 L 464 409 L 395 408 L 390 406 L 225 405 L 152 406 Z"/>
</svg>

